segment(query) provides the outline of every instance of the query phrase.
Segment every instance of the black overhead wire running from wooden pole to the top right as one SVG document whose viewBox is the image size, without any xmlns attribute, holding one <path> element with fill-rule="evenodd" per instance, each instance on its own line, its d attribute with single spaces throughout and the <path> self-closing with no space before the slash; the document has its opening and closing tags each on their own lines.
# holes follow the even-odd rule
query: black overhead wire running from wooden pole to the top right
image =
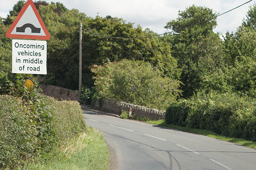
<svg viewBox="0 0 256 170">
<path fill-rule="evenodd" d="M 251 2 L 251 1 L 253 1 L 253 0 L 250 0 L 250 1 L 246 2 L 246 3 L 249 3 L 249 2 Z M 170 32 L 167 32 L 167 33 L 158 34 L 158 35 L 150 35 L 150 36 L 144 36 L 144 37 L 130 37 L 130 38 L 124 38 L 124 37 L 112 37 L 112 36 L 101 35 L 101 34 L 94 33 L 94 32 L 92 32 L 92 31 L 86 30 L 86 29 L 84 29 L 84 28 L 83 28 L 83 30 L 88 31 L 88 32 L 90 32 L 90 33 L 92 33 L 92 34 L 95 34 L 95 35 L 99 35 L 99 36 L 106 37 L 106 38 L 116 38 L 116 39 L 140 39 L 140 38 L 150 38 L 150 37 L 154 37 L 154 36 L 161 36 L 161 35 L 166 35 L 166 34 L 170 34 L 170 33 L 173 33 L 173 32 L 177 32 L 177 31 L 181 31 L 181 30 L 184 30 L 184 29 L 186 29 L 186 28 L 194 27 L 195 25 L 202 24 L 202 23 L 204 23 L 204 22 L 207 22 L 207 21 L 209 21 L 209 20 L 212 20 L 212 19 L 214 19 L 214 18 L 217 18 L 217 17 L 219 17 L 219 16 L 221 16 L 221 15 L 223 15 L 223 14 L 229 13 L 230 11 L 233 11 L 234 9 L 237 9 L 237 8 L 239 8 L 239 7 L 243 6 L 243 5 L 245 5 L 246 3 L 244 3 L 244 4 L 240 5 L 240 6 L 237 6 L 237 7 L 233 8 L 233 9 L 230 9 L 229 11 L 227 11 L 227 12 L 225 12 L 225 13 L 222 13 L 222 14 L 219 14 L 219 15 L 217 15 L 217 16 L 215 16 L 215 17 L 212 17 L 212 18 L 210 18 L 210 19 L 207 19 L 207 20 L 205 20 L 205 21 L 198 22 L 197 24 L 190 25 L 190 26 L 188 26 L 188 27 L 184 27 L 184 28 L 181 28 L 181 29 L 178 29 L 178 30 L 173 30 L 173 31 L 170 31 Z"/>
</svg>

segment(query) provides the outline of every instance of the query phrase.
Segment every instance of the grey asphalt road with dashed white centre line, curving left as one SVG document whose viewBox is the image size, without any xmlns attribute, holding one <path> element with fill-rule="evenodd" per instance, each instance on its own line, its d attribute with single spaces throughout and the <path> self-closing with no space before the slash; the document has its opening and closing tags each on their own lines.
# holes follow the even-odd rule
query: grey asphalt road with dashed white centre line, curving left
<svg viewBox="0 0 256 170">
<path fill-rule="evenodd" d="M 256 170 L 254 149 L 82 109 L 87 126 L 105 136 L 110 170 Z"/>
</svg>

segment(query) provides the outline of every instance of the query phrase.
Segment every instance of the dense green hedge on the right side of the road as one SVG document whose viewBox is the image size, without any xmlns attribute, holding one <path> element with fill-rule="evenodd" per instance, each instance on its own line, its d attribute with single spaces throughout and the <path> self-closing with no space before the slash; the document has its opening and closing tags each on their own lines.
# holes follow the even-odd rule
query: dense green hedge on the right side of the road
<svg viewBox="0 0 256 170">
<path fill-rule="evenodd" d="M 199 93 L 166 109 L 167 124 L 256 141 L 256 104 L 234 93 Z"/>
</svg>

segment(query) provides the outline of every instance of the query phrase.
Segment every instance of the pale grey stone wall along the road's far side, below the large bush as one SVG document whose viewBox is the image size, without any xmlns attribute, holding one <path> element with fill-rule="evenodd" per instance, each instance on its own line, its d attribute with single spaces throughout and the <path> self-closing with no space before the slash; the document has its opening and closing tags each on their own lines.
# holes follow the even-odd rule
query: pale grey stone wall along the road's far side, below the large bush
<svg viewBox="0 0 256 170">
<path fill-rule="evenodd" d="M 96 101 L 95 106 L 100 107 L 99 100 Z M 129 103 L 117 101 L 114 99 L 105 99 L 101 107 L 102 109 L 106 109 L 115 113 L 129 111 L 131 108 L 132 115 L 141 116 L 144 118 L 151 118 L 153 120 L 159 120 L 159 119 L 165 118 L 165 111 L 150 109 L 144 106 L 129 104 Z"/>
</svg>

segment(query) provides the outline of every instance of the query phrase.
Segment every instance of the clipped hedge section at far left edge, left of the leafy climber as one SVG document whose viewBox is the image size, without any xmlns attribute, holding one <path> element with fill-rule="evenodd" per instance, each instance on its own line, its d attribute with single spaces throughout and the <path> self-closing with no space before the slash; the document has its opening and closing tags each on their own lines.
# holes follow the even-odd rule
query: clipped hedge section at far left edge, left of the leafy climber
<svg viewBox="0 0 256 170">
<path fill-rule="evenodd" d="M 0 95 L 0 169 L 21 164 L 37 155 L 34 129 L 30 128 L 29 111 L 21 100 Z"/>
</svg>

